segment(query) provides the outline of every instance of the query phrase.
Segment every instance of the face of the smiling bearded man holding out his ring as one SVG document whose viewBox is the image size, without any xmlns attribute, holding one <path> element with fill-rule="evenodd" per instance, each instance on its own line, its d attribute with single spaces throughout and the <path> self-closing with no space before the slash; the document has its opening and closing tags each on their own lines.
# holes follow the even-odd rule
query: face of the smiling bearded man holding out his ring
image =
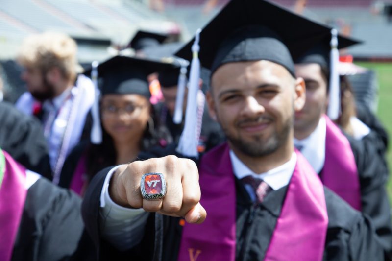
<svg viewBox="0 0 392 261">
<path fill-rule="evenodd" d="M 294 100 L 296 109 L 304 102 L 297 86 L 283 66 L 270 61 L 222 65 L 211 78 L 211 115 L 232 147 L 251 157 L 269 155 L 292 141 Z"/>
</svg>

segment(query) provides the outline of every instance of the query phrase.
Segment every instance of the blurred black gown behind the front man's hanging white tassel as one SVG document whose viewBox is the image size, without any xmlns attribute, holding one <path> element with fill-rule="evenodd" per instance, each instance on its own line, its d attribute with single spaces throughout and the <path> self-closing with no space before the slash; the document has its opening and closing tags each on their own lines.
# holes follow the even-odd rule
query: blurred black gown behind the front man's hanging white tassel
<svg viewBox="0 0 392 261">
<path fill-rule="evenodd" d="M 164 124 L 168 128 L 170 135 L 172 136 L 172 141 L 178 144 L 181 133 L 184 129 L 184 122 L 181 124 L 175 124 L 164 103 L 158 103 L 155 106 L 155 110 L 156 115 L 159 117 L 159 124 Z M 162 122 L 163 120 L 164 122 Z M 224 141 L 225 137 L 221 126 L 218 122 L 211 119 L 208 114 L 208 106 L 205 104 L 199 143 L 205 146 L 204 152 L 206 152 Z"/>
</svg>

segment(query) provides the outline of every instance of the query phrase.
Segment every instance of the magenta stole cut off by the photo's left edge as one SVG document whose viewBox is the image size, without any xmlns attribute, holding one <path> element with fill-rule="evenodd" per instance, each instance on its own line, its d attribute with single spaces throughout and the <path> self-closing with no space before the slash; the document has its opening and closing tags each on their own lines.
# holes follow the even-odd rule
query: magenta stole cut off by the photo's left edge
<svg viewBox="0 0 392 261">
<path fill-rule="evenodd" d="M 27 190 L 25 168 L 0 149 L 4 163 L 0 187 L 0 260 L 11 260 L 15 237 L 22 218 Z M 1 163 L 0 163 L 1 164 Z"/>
</svg>

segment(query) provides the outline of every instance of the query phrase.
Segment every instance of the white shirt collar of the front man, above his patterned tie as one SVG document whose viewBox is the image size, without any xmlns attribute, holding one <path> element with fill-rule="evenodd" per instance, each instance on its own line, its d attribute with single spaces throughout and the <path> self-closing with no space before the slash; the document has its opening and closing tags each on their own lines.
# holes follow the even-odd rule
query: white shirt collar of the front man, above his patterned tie
<svg viewBox="0 0 392 261">
<path fill-rule="evenodd" d="M 272 190 L 279 190 L 289 184 L 297 162 L 297 155 L 293 152 L 291 159 L 288 162 L 260 174 L 256 174 L 250 170 L 232 150 L 230 150 L 230 160 L 233 166 L 234 175 L 236 175 L 238 179 L 252 175 L 255 178 L 264 180 Z"/>
</svg>

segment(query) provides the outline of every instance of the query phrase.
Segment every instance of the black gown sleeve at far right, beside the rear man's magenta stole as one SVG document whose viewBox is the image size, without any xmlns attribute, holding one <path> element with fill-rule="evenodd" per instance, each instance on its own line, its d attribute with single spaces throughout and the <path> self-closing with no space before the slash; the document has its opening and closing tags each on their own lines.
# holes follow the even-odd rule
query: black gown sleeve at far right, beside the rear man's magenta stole
<svg viewBox="0 0 392 261">
<path fill-rule="evenodd" d="M 362 212 L 371 217 L 384 248 L 392 256 L 391 207 L 385 189 L 388 169 L 371 142 L 347 136 L 358 168 Z"/>
</svg>

